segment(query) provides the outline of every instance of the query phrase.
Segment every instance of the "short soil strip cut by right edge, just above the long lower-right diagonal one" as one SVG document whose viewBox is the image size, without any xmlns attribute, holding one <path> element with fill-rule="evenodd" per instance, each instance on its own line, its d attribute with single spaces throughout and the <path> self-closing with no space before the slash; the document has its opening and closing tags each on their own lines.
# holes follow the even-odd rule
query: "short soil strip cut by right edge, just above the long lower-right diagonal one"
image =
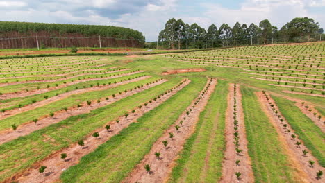
<svg viewBox="0 0 325 183">
<path fill-rule="evenodd" d="M 315 125 L 317 125 L 322 130 L 322 132 L 325 132 L 325 118 L 324 116 L 322 116 L 322 114 L 317 112 L 317 110 L 315 110 L 313 106 L 309 104 L 307 105 L 306 103 L 305 105 L 303 105 L 302 103 L 296 103 L 296 106 L 299 107 L 301 112 L 308 116 L 308 118 L 310 118 L 315 123 Z M 308 108 L 306 108 L 306 106 L 308 106 Z M 316 113 L 315 115 L 314 112 Z M 318 116 L 321 116 L 321 119 L 318 119 Z"/>
</svg>

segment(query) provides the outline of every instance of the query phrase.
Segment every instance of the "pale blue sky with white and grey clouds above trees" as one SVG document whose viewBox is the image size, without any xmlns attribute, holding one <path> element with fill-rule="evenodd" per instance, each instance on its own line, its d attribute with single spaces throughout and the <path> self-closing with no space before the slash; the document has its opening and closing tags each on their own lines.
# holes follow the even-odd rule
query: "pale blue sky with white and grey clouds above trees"
<svg viewBox="0 0 325 183">
<path fill-rule="evenodd" d="M 281 28 L 294 17 L 311 17 L 325 28 L 325 0 L 0 0 L 0 21 L 123 26 L 157 40 L 168 19 L 203 28 L 223 23 Z"/>
</svg>

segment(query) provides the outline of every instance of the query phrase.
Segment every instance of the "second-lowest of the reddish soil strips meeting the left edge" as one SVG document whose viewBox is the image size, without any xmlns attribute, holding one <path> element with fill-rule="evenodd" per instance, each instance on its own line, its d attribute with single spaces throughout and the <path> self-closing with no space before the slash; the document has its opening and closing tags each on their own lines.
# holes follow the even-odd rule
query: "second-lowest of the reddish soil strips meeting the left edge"
<svg viewBox="0 0 325 183">
<path fill-rule="evenodd" d="M 12 110 L 7 110 L 6 112 L 2 113 L 2 116 L 0 116 L 0 120 L 6 119 L 6 118 L 8 118 L 10 116 L 15 116 L 16 114 L 20 114 L 22 112 L 26 112 L 26 111 L 29 111 L 29 110 L 34 110 L 34 109 L 36 109 L 38 107 L 48 105 L 49 103 L 53 103 L 55 101 L 63 100 L 64 98 L 67 98 L 67 97 L 72 96 L 72 95 L 78 95 L 78 94 L 83 94 L 83 93 L 86 93 L 86 92 L 94 92 L 94 91 L 101 91 L 101 90 L 105 90 L 105 89 L 110 89 L 110 88 L 114 88 L 114 87 L 117 87 L 117 86 L 120 86 L 120 85 L 126 85 L 126 84 L 131 83 L 131 82 L 137 82 L 139 80 L 144 80 L 144 79 L 147 79 L 147 78 L 150 78 L 150 77 L 151 76 L 143 76 L 143 77 L 140 77 L 140 78 L 135 78 L 133 80 L 126 80 L 126 81 L 117 82 L 116 84 L 111 84 L 111 85 L 106 85 L 106 86 L 99 86 L 99 87 L 94 86 L 94 87 L 90 87 L 90 88 L 72 90 L 71 92 L 60 94 L 58 96 L 53 96 L 51 98 L 48 98 L 48 99 L 43 100 L 43 101 L 38 101 L 38 102 L 33 103 L 31 105 L 25 105 L 24 107 L 22 107 L 20 109 L 15 108 L 15 109 L 12 109 Z M 0 134 L 1 134 L 1 132 L 0 132 Z"/>
</svg>

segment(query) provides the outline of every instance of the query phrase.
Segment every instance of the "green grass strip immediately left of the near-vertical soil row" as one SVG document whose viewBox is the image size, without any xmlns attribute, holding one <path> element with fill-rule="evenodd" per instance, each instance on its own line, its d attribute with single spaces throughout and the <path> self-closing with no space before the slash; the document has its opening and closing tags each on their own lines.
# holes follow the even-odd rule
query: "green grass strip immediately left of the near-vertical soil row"
<svg viewBox="0 0 325 183">
<path fill-rule="evenodd" d="M 218 80 L 195 132 L 178 155 L 169 182 L 217 182 L 222 176 L 227 94 L 228 82 Z M 210 155 L 206 166 L 207 153 Z"/>
</svg>

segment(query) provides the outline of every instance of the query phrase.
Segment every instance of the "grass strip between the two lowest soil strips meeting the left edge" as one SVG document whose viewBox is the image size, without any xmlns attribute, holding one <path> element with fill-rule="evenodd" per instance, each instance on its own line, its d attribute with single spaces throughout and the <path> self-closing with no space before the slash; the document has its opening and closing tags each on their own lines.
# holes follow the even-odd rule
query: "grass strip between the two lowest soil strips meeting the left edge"
<svg viewBox="0 0 325 183">
<path fill-rule="evenodd" d="M 58 110 L 63 110 L 64 107 L 72 107 L 78 105 L 81 102 L 112 96 L 113 94 L 117 94 L 118 92 L 123 92 L 125 89 L 134 89 L 134 87 L 137 87 L 138 85 L 146 85 L 148 82 L 152 82 L 157 79 L 158 78 L 156 77 L 151 77 L 145 80 L 140 80 L 138 82 L 131 82 L 126 85 L 121 85 L 110 89 L 104 89 L 104 90 L 99 90 L 94 92 L 86 92 L 83 94 L 68 96 L 67 98 L 64 98 L 62 100 L 49 103 L 48 105 L 44 105 L 42 107 L 38 107 L 35 110 L 22 112 L 15 116 L 10 116 L 6 119 L 0 120 L 0 130 L 11 128 L 12 124 L 20 125 L 22 123 L 32 121 L 33 119 L 38 119 L 40 116 L 49 114 L 49 112 L 56 112 Z"/>
</svg>

